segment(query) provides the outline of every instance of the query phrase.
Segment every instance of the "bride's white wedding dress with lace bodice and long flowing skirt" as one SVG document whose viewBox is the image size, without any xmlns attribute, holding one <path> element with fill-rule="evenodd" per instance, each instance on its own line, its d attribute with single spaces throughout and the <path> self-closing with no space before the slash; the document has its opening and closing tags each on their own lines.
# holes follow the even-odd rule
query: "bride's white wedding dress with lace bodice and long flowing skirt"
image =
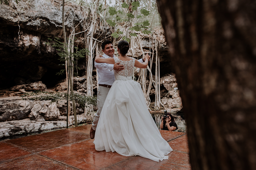
<svg viewBox="0 0 256 170">
<path fill-rule="evenodd" d="M 140 84 L 132 80 L 135 59 L 115 63 L 124 70 L 114 71 L 115 82 L 108 92 L 95 132 L 97 151 L 116 151 L 120 155 L 139 155 L 159 161 L 172 151 L 150 115 Z"/>
</svg>

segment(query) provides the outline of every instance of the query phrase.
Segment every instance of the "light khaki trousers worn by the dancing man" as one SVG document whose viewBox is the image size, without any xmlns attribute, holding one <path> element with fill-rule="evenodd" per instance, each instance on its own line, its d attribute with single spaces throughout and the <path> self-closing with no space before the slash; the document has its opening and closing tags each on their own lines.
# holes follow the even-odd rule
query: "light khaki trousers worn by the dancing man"
<svg viewBox="0 0 256 170">
<path fill-rule="evenodd" d="M 103 107 L 103 104 L 106 100 L 106 97 L 108 95 L 108 91 L 110 88 L 99 86 L 98 91 L 97 91 L 97 113 L 95 114 L 95 117 L 92 122 L 92 129 L 96 131 L 97 124 L 99 122 L 100 118 L 100 113 Z"/>
</svg>

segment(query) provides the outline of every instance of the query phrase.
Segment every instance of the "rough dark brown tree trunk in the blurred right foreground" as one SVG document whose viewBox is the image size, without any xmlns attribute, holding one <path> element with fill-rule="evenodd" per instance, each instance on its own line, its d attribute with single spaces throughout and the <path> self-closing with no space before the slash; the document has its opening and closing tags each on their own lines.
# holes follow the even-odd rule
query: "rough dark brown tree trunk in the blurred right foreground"
<svg viewBox="0 0 256 170">
<path fill-rule="evenodd" d="M 256 169 L 256 1 L 157 0 L 193 170 Z"/>
</svg>

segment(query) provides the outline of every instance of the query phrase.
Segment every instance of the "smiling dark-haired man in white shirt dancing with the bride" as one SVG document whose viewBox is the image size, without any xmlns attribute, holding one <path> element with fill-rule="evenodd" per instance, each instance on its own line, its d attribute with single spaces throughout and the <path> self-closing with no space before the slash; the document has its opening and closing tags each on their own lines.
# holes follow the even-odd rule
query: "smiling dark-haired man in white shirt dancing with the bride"
<svg viewBox="0 0 256 170">
<path fill-rule="evenodd" d="M 110 40 L 106 40 L 101 44 L 103 57 L 104 58 L 110 58 L 115 57 L 114 56 L 114 46 Z M 144 62 L 145 59 L 140 59 L 140 62 Z M 100 118 L 100 113 L 103 107 L 103 104 L 105 102 L 105 99 L 108 95 L 108 91 L 111 88 L 112 84 L 115 81 L 115 75 L 113 70 L 123 70 L 124 66 L 120 65 L 120 63 L 115 64 L 107 64 L 107 63 L 96 63 L 94 62 L 94 66 L 97 68 L 98 72 L 98 92 L 97 92 L 97 108 L 98 111 L 95 114 L 95 117 L 92 122 L 92 128 L 90 130 L 90 138 L 93 139 L 95 136 L 96 127 Z"/>
</svg>

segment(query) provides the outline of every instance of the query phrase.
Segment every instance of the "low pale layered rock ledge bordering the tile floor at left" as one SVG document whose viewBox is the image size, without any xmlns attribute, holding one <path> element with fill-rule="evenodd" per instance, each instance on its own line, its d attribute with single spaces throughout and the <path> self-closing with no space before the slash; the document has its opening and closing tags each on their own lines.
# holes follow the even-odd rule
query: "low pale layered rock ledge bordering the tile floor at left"
<svg viewBox="0 0 256 170">
<path fill-rule="evenodd" d="M 66 101 L 22 100 L 21 97 L 0 97 L 0 138 L 18 134 L 59 129 L 67 126 Z M 85 123 L 84 108 L 76 108 L 78 123 Z M 90 117 L 91 118 L 91 117 Z M 68 126 L 74 124 L 70 116 Z"/>
</svg>

